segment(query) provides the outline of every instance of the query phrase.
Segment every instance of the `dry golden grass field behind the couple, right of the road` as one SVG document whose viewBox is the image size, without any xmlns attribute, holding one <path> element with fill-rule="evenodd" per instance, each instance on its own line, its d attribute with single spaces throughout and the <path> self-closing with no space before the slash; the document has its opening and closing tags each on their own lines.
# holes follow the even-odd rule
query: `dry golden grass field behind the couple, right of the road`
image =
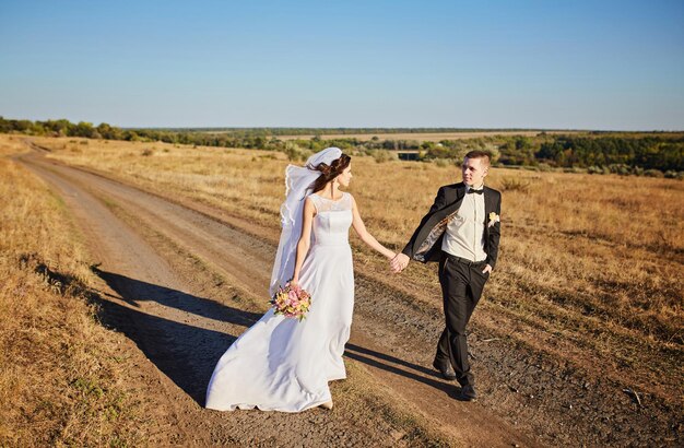
<svg viewBox="0 0 684 448">
<path fill-rule="evenodd" d="M 78 139 L 37 139 L 51 157 L 143 188 L 192 198 L 278 227 L 283 154 Z M 401 249 L 455 166 L 353 158 L 367 227 Z M 503 191 L 499 264 L 473 317 L 556 358 L 681 403 L 684 182 L 495 168 Z M 386 263 L 356 244 L 356 263 Z M 266 269 L 266 268 L 264 268 Z M 433 267 L 412 263 L 393 284 L 434 291 Z M 437 295 L 436 295 L 437 296 Z M 431 306 L 437 306 L 439 300 Z"/>
</svg>

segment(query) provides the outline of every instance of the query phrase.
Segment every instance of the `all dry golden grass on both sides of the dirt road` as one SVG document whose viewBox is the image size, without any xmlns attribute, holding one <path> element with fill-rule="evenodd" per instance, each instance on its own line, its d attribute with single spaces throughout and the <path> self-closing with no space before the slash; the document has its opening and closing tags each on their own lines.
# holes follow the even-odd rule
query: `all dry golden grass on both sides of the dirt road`
<svg viewBox="0 0 684 448">
<path fill-rule="evenodd" d="M 0 135 L 3 154 L 26 150 L 25 139 Z M 50 158 L 278 232 L 288 164 L 281 153 L 32 140 L 48 149 Z M 131 425 L 139 411 L 120 405 L 131 398 L 117 386 L 126 362 L 117 361 L 116 349 L 86 305 L 92 273 L 78 232 L 45 185 L 11 161 L 0 163 L 0 269 L 9 279 L 0 284 L 0 413 L 9 415 L 0 422 L 0 440 L 134 440 L 139 434 Z M 352 167 L 350 191 L 366 226 L 396 250 L 437 188 L 460 180 L 456 166 L 429 163 L 354 156 Z M 492 340 L 552 359 L 558 377 L 579 372 L 588 384 L 617 385 L 609 388 L 616 394 L 636 391 L 647 402 L 681 409 L 684 182 L 494 168 L 487 185 L 504 194 L 502 248 L 472 326 Z M 390 275 L 385 260 L 355 237 L 352 243 L 356 269 L 364 275 L 406 293 L 428 311 L 440 309 L 434 266 L 412 263 L 402 274 Z M 51 274 L 46 276 L 43 264 Z M 28 350 L 37 346 L 46 351 Z M 51 381 L 47 398 L 34 387 L 45 372 Z M 25 433 L 12 433 L 26 424 L 27 415 L 42 420 Z"/>
</svg>

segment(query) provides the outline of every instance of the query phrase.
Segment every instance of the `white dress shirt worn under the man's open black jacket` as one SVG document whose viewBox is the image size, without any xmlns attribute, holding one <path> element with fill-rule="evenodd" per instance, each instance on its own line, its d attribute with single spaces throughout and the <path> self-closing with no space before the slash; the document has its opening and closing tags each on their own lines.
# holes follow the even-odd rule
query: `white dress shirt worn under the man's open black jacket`
<svg viewBox="0 0 684 448">
<path fill-rule="evenodd" d="M 470 261 L 484 261 L 484 192 L 469 194 L 471 188 L 480 190 L 484 186 L 465 186 L 465 197 L 447 225 L 441 250 Z"/>
</svg>

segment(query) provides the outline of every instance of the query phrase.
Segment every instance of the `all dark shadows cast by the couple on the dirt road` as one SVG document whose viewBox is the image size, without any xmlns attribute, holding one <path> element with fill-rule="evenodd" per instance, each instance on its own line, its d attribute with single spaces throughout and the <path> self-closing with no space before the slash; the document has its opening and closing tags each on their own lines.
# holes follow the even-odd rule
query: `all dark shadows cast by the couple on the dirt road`
<svg viewBox="0 0 684 448">
<path fill-rule="evenodd" d="M 207 385 L 216 362 L 237 339 L 237 334 L 189 323 L 185 313 L 245 328 L 261 318 L 260 314 L 233 308 L 178 290 L 97 268 L 93 268 L 93 271 L 131 305 L 120 305 L 102 296 L 94 298 L 101 321 L 135 342 L 160 370 L 200 405 L 204 405 Z M 178 315 L 178 320 L 150 315 L 140 309 L 141 302 L 156 302 L 184 314 Z M 368 366 L 434 387 L 449 396 L 456 394 L 457 388 L 435 378 L 436 373 L 429 368 L 355 344 L 346 344 L 345 355 Z"/>
</svg>

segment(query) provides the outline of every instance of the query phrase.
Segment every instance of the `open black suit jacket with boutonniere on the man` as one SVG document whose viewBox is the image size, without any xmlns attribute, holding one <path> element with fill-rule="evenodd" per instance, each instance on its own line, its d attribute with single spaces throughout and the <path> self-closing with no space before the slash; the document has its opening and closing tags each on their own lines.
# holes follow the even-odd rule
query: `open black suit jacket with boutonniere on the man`
<svg viewBox="0 0 684 448">
<path fill-rule="evenodd" d="M 484 187 L 484 251 L 487 264 L 494 269 L 498 256 L 500 223 L 490 225 L 490 213 L 502 214 L 502 193 L 493 188 Z M 402 250 L 412 260 L 421 262 L 439 261 L 441 258 L 441 240 L 449 221 L 456 216 L 465 197 L 465 184 L 445 185 L 437 191 L 435 203 L 417 226 L 409 244 Z"/>
</svg>

